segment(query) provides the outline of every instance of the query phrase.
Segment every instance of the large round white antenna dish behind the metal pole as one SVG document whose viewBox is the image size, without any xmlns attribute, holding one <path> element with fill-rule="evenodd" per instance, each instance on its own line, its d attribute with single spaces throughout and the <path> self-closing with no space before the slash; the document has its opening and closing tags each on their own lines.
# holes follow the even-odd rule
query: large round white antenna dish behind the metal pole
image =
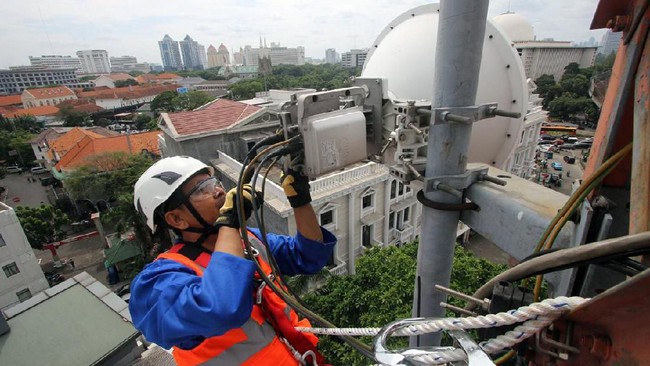
<svg viewBox="0 0 650 366">
<path fill-rule="evenodd" d="M 439 4 L 423 5 L 395 18 L 368 53 L 362 77 L 388 80 L 388 91 L 399 100 L 431 100 L 438 36 Z M 463 40 L 458 40 L 459 46 Z M 487 21 L 476 104 L 498 103 L 499 109 L 521 118 L 495 117 L 474 123 L 469 162 L 500 169 L 519 144 L 528 106 L 526 77 L 517 50 Z"/>
</svg>

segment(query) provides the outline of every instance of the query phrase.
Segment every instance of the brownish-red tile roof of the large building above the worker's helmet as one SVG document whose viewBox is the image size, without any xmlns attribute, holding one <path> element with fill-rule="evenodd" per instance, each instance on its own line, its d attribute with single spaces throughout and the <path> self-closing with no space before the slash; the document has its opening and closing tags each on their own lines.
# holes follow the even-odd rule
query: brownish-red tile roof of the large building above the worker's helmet
<svg viewBox="0 0 650 366">
<path fill-rule="evenodd" d="M 230 127 L 260 110 L 257 106 L 217 99 L 201 110 L 169 113 L 168 117 L 176 133 L 183 136 Z"/>
</svg>

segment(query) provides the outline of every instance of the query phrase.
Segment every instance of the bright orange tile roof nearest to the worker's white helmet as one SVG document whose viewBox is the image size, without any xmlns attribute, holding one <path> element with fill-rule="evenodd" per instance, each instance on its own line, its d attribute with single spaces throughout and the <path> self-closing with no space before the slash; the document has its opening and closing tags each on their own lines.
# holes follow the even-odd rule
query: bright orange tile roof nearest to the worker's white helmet
<svg viewBox="0 0 650 366">
<path fill-rule="evenodd" d="M 146 150 L 155 155 L 160 155 L 160 149 L 158 148 L 158 135 L 160 133 L 160 131 L 150 131 L 101 139 L 85 137 L 68 151 L 55 167 L 58 170 L 70 170 L 92 164 L 93 157 L 108 152 L 125 152 L 134 155 Z"/>
</svg>

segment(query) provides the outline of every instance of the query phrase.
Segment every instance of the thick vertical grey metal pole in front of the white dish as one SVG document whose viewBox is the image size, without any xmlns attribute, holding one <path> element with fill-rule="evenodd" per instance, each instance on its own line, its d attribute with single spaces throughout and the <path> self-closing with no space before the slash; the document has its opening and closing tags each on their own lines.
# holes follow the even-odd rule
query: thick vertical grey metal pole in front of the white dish
<svg viewBox="0 0 650 366">
<path fill-rule="evenodd" d="M 438 23 L 432 108 L 467 107 L 476 102 L 488 0 L 442 0 Z M 426 176 L 461 174 L 467 166 L 471 124 L 431 126 Z M 426 193 L 429 200 L 459 203 L 442 191 Z M 413 294 L 414 317 L 442 317 L 446 295 L 434 285 L 449 286 L 459 212 L 423 208 L 422 232 Z M 440 334 L 411 337 L 412 347 L 437 346 Z"/>
</svg>

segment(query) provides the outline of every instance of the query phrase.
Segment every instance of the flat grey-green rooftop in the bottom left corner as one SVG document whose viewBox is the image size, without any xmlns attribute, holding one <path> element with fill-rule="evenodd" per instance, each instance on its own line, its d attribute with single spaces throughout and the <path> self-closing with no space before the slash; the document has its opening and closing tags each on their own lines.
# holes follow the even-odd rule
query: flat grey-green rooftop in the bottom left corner
<svg viewBox="0 0 650 366">
<path fill-rule="evenodd" d="M 101 364 L 139 336 L 128 305 L 86 272 L 5 314 L 0 365 Z"/>
</svg>

